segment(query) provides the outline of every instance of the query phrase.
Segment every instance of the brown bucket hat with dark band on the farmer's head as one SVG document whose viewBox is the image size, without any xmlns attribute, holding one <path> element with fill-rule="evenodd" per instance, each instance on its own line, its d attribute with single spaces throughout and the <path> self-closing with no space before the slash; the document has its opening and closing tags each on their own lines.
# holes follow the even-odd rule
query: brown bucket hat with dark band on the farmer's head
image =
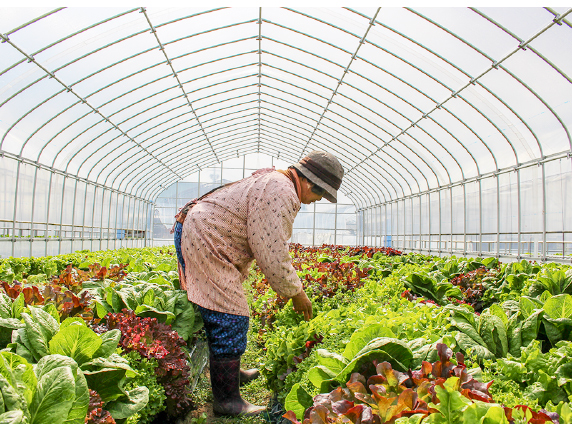
<svg viewBox="0 0 572 427">
<path fill-rule="evenodd" d="M 324 197 L 332 203 L 338 201 L 338 190 L 342 185 L 344 168 L 333 154 L 326 151 L 312 151 L 298 163 L 292 165 L 312 183 L 326 190 Z"/>
</svg>

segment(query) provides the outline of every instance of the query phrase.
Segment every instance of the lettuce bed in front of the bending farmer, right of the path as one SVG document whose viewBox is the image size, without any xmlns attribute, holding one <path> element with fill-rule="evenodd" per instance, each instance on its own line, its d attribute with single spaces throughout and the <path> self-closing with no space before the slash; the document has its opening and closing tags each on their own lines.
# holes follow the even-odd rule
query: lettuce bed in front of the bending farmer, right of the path
<svg viewBox="0 0 572 427">
<path fill-rule="evenodd" d="M 572 270 L 293 247 L 304 322 L 253 284 L 262 372 L 292 422 L 571 422 Z"/>
</svg>

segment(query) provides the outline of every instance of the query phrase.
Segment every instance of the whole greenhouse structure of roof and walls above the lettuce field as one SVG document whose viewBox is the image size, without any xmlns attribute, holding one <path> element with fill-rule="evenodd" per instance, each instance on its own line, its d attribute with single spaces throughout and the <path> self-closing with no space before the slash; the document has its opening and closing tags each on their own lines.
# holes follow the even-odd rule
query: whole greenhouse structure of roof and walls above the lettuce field
<svg viewBox="0 0 572 427">
<path fill-rule="evenodd" d="M 2 257 L 172 244 L 325 150 L 292 242 L 572 259 L 571 8 L 1 11 Z"/>
</svg>

